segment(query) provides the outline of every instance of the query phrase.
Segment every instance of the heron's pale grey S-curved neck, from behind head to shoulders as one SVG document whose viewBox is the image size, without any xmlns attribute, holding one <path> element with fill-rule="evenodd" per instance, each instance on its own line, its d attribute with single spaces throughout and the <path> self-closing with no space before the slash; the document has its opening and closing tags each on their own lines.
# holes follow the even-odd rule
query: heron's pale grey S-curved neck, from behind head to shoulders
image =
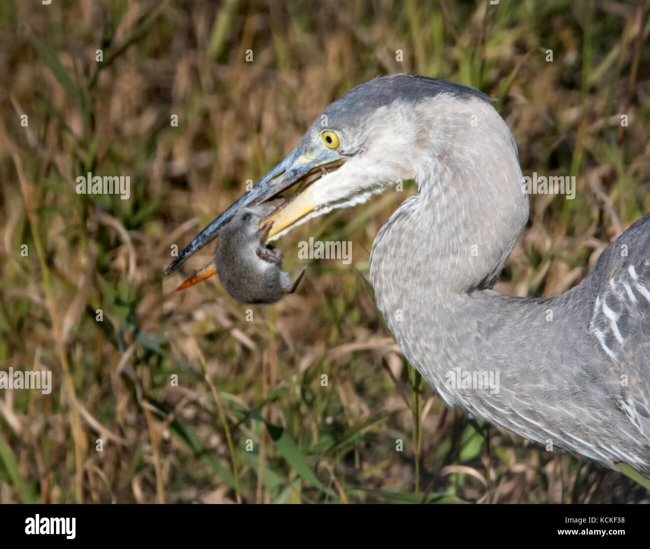
<svg viewBox="0 0 650 549">
<path fill-rule="evenodd" d="M 478 127 L 459 123 L 474 108 L 483 109 Z M 380 288 L 402 281 L 409 292 L 441 301 L 491 288 L 523 231 L 528 196 L 512 134 L 490 105 L 467 109 L 436 119 L 447 138 L 432 138 L 413 161 L 420 192 L 400 205 L 373 245 L 371 277 L 393 279 L 380 280 Z"/>
</svg>

